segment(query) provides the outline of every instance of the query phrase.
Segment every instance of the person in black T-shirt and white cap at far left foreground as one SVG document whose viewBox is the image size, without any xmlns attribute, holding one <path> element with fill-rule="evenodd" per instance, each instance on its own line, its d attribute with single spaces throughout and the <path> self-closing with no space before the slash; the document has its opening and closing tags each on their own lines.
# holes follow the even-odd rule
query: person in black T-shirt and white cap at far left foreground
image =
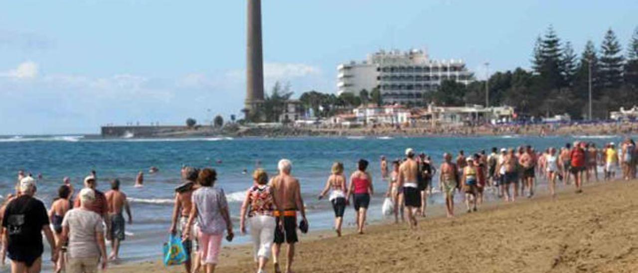
<svg viewBox="0 0 638 273">
<path fill-rule="evenodd" d="M 4 247 L 11 259 L 11 272 L 40 272 L 42 267 L 42 233 L 51 247 L 51 260 L 57 261 L 56 245 L 49 226 L 47 209 L 34 198 L 36 181 L 24 177 L 19 184 L 20 196 L 11 200 L 4 210 Z"/>
</svg>

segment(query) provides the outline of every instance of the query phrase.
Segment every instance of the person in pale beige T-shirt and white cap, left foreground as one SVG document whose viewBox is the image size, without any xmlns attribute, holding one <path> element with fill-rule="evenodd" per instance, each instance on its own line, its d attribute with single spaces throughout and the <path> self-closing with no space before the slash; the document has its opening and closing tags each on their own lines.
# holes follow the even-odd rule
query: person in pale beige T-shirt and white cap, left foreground
<svg viewBox="0 0 638 273">
<path fill-rule="evenodd" d="M 91 210 L 96 200 L 95 191 L 84 188 L 78 193 L 80 207 L 69 210 L 62 221 L 62 236 L 58 248 L 68 241 L 67 273 L 97 272 L 107 268 L 107 247 L 104 241 L 104 225 L 100 215 Z"/>
</svg>

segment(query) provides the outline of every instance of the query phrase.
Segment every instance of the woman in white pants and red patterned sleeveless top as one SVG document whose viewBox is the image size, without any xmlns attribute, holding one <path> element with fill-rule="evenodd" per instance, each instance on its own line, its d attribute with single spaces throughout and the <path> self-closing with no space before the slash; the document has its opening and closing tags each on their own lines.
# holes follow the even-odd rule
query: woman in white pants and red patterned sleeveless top
<svg viewBox="0 0 638 273">
<path fill-rule="evenodd" d="M 246 234 L 246 216 L 248 216 L 257 272 L 263 273 L 268 259 L 271 258 L 271 246 L 276 228 L 274 212 L 275 209 L 279 209 L 279 206 L 272 194 L 272 188 L 267 185 L 268 175 L 263 169 L 255 170 L 253 180 L 254 184 L 248 189 L 246 199 L 241 206 L 239 227 L 241 232 Z M 279 215 L 283 218 L 283 212 Z M 283 223 L 283 219 L 279 223 Z"/>
</svg>

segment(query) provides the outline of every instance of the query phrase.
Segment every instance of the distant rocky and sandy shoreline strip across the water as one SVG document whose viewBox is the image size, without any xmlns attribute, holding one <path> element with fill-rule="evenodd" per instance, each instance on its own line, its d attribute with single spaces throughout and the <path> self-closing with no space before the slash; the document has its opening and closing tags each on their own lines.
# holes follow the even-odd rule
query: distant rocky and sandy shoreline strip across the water
<svg viewBox="0 0 638 273">
<path fill-rule="evenodd" d="M 136 131 L 137 130 L 137 131 Z M 638 132 L 638 124 L 631 122 L 606 122 L 597 124 L 528 124 L 498 126 L 368 126 L 361 128 L 309 127 L 279 125 L 272 127 L 239 126 L 230 124 L 224 128 L 201 126 L 185 128 L 179 126 L 119 126 L 103 128 L 101 135 L 86 135 L 97 139 L 138 138 L 198 138 L 198 137 L 348 137 L 348 136 L 392 136 L 392 137 L 445 137 L 445 136 L 593 136 L 630 135 Z M 126 134 L 122 135 L 122 132 Z"/>
</svg>

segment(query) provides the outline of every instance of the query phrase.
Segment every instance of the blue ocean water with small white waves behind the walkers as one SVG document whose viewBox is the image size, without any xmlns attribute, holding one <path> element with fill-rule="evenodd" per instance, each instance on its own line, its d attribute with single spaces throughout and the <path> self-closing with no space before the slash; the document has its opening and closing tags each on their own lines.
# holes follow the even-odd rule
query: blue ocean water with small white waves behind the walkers
<svg viewBox="0 0 638 273">
<path fill-rule="evenodd" d="M 251 185 L 250 173 L 256 166 L 276 174 L 279 159 L 293 163 L 292 173 L 300 179 L 302 196 L 308 208 L 311 230 L 332 228 L 333 212 L 327 200 L 316 196 L 325 185 L 334 161 L 345 165 L 346 175 L 360 158 L 371 162 L 375 196 L 370 211 L 372 221 L 382 219 L 380 203 L 387 182 L 380 177 L 380 156 L 391 161 L 403 156 L 407 147 L 432 156 L 438 166 L 443 152 L 466 154 L 491 147 L 516 147 L 530 144 L 537 149 L 562 147 L 567 142 L 584 140 L 600 147 L 618 143 L 623 136 L 481 136 L 481 137 L 344 137 L 344 138 L 193 138 L 101 140 L 83 136 L 0 136 L 0 195 L 13 191 L 17 171 L 34 177 L 41 173 L 36 196 L 48 206 L 57 194 L 63 177 L 71 177 L 76 189 L 91 170 L 98 174 L 98 189 L 107 191 L 108 181 L 118 178 L 122 191 L 130 198 L 133 225 L 127 226 L 128 238 L 122 243 L 124 262 L 157 260 L 167 239 L 174 187 L 180 183 L 182 165 L 215 168 L 216 186 L 223 188 L 230 202 L 230 214 L 238 228 L 239 207 L 244 191 Z M 149 174 L 151 166 L 158 173 Z M 248 174 L 242 171 L 248 170 Z M 143 188 L 134 188 L 137 172 L 145 172 Z M 438 181 L 434 181 L 437 185 Z M 489 197 L 489 196 L 488 196 Z M 431 198 L 441 204 L 440 196 Z M 346 210 L 345 224 L 353 224 L 352 207 Z M 237 232 L 238 233 L 238 232 Z M 247 242 L 238 237 L 235 244 Z M 46 253 L 46 252 L 45 252 Z M 50 263 L 45 263 L 50 264 Z M 4 268 L 6 269 L 6 268 Z"/>
</svg>

